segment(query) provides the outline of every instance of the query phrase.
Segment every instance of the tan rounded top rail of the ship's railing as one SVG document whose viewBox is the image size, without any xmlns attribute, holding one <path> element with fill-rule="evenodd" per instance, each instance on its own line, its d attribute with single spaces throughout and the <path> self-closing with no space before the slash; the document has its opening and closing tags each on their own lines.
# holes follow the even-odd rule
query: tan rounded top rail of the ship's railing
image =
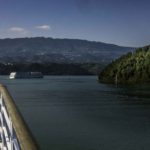
<svg viewBox="0 0 150 150">
<path fill-rule="evenodd" d="M 6 86 L 0 84 L 0 93 L 3 96 L 3 101 L 11 118 L 21 150 L 38 150 L 39 148 Z"/>
</svg>

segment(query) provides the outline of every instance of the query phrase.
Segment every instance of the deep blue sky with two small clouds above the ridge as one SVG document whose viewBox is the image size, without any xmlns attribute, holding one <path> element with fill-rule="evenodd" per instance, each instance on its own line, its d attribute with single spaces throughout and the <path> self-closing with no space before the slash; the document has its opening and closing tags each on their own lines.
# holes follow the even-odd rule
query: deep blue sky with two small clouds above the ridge
<svg viewBox="0 0 150 150">
<path fill-rule="evenodd" d="M 0 0 L 0 38 L 150 44 L 149 0 Z"/>
</svg>

